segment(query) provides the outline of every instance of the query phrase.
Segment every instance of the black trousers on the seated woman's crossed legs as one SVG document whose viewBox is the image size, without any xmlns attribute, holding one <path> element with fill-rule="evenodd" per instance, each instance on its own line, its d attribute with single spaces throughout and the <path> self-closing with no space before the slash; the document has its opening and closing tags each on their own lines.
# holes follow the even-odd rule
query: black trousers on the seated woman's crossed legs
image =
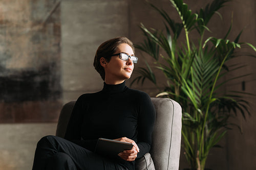
<svg viewBox="0 0 256 170">
<path fill-rule="evenodd" d="M 32 170 L 126 170 L 121 164 L 57 137 L 42 137 L 36 147 Z"/>
</svg>

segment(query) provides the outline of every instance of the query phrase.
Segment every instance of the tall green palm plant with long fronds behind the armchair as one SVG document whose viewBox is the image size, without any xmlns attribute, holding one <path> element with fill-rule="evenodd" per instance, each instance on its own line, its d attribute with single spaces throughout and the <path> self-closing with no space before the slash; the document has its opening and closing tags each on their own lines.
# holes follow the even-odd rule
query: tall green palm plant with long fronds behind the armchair
<svg viewBox="0 0 256 170">
<path fill-rule="evenodd" d="M 229 40 L 223 38 L 205 37 L 209 31 L 207 23 L 211 17 L 223 7 L 228 0 L 214 0 L 204 9 L 193 13 L 182 0 L 169 0 L 177 10 L 181 22 L 171 19 L 168 13 L 150 4 L 164 19 L 165 30 L 147 29 L 141 23 L 145 36 L 142 43 L 136 45 L 141 51 L 151 56 L 156 68 L 160 69 L 167 81 L 165 89 L 157 96 L 172 98 L 182 105 L 182 137 L 185 157 L 190 169 L 204 169 L 207 156 L 212 147 L 218 145 L 230 126 L 228 118 L 233 114 L 250 114 L 248 102 L 241 91 L 222 91 L 227 82 L 246 75 L 223 80 L 229 72 L 240 69 L 239 63 L 228 66 L 227 62 L 238 56 L 253 56 L 239 54 L 240 48 L 256 48 L 246 42 L 239 42 L 240 35 Z M 182 30 L 184 41 L 178 40 Z M 198 32 L 198 39 L 190 39 L 192 30 Z M 160 54 L 160 50 L 164 51 Z M 158 81 L 150 64 L 145 61 L 145 67 L 139 67 L 139 74 L 132 82 L 142 83 L 150 80 L 158 87 Z"/>
</svg>

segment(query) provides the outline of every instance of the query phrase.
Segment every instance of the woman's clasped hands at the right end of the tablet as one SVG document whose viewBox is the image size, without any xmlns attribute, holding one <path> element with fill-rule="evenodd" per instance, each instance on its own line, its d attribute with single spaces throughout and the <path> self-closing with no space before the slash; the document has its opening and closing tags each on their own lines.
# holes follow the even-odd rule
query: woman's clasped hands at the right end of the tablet
<svg viewBox="0 0 256 170">
<path fill-rule="evenodd" d="M 139 152 L 139 147 L 135 143 L 135 141 L 133 141 L 132 139 L 129 139 L 127 137 L 122 137 L 122 138 L 114 139 L 114 140 L 118 140 L 118 141 L 122 141 L 122 142 L 129 142 L 129 143 L 134 144 L 133 148 L 131 150 L 125 150 L 118 154 L 118 156 L 120 156 L 123 160 L 134 161 L 137 158 L 137 154 Z"/>
</svg>

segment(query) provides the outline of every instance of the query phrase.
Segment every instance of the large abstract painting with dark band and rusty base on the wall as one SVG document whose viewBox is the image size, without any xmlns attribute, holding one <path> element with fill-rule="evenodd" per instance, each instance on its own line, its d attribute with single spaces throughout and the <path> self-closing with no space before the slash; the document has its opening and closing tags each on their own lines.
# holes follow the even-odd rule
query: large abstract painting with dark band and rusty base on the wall
<svg viewBox="0 0 256 170">
<path fill-rule="evenodd" d="M 0 123 L 56 122 L 61 108 L 60 2 L 0 2 Z"/>
</svg>

